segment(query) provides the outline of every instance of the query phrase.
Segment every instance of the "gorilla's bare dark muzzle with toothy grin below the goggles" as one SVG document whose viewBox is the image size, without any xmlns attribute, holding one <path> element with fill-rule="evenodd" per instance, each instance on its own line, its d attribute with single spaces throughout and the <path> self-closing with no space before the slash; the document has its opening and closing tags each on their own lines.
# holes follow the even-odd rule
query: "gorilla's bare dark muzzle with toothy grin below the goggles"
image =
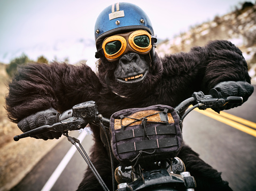
<svg viewBox="0 0 256 191">
<path fill-rule="evenodd" d="M 149 72 L 150 62 L 146 55 L 129 52 L 120 57 L 114 71 L 115 79 L 122 84 L 141 84 Z"/>
</svg>

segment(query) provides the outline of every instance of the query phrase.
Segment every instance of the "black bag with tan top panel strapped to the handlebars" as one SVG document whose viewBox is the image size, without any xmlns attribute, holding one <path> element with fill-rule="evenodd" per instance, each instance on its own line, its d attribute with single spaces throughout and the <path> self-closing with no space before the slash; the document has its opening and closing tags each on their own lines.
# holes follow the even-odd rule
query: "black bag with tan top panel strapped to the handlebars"
<svg viewBox="0 0 256 191">
<path fill-rule="evenodd" d="M 112 151 L 120 163 L 175 157 L 183 144 L 179 115 L 167 105 L 118 111 L 110 128 Z"/>
</svg>

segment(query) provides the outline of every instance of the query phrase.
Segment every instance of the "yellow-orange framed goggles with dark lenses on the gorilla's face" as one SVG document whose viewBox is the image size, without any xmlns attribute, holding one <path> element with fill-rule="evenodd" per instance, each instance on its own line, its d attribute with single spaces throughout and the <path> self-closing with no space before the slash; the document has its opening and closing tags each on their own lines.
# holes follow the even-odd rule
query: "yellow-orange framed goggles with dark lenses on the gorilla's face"
<svg viewBox="0 0 256 191">
<path fill-rule="evenodd" d="M 105 56 L 110 62 L 116 61 L 119 57 L 127 52 L 137 52 L 139 54 L 148 54 L 152 44 L 157 39 L 153 38 L 145 30 L 136 30 L 110 36 L 104 39 L 102 48 L 96 52 L 95 57 Z"/>
</svg>

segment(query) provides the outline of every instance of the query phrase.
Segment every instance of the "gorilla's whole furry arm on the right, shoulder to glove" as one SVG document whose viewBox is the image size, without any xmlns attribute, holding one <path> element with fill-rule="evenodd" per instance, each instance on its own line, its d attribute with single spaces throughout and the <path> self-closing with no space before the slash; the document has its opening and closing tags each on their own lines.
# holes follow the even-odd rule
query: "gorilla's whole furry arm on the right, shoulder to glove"
<svg viewBox="0 0 256 191">
<path fill-rule="evenodd" d="M 251 82 L 242 52 L 226 40 L 210 41 L 188 53 L 166 56 L 162 62 L 163 74 L 186 96 L 198 90 L 207 94 L 223 81 Z"/>
</svg>

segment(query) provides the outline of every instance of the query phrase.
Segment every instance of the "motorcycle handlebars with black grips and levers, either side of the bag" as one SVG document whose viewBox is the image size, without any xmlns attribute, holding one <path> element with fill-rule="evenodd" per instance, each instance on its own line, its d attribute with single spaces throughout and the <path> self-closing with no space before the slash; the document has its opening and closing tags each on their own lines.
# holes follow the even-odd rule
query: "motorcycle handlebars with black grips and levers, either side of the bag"
<svg viewBox="0 0 256 191">
<path fill-rule="evenodd" d="M 243 103 L 242 97 L 230 96 L 227 98 L 219 98 L 219 94 L 215 89 L 210 90 L 211 95 L 204 95 L 203 92 L 195 92 L 192 97 L 185 99 L 179 105 L 175 107 L 175 111 L 180 114 L 182 111 L 188 108 L 189 105 L 194 105 L 190 111 L 198 107 L 200 110 L 207 108 L 217 108 L 231 104 Z M 181 120 L 190 112 L 185 113 Z M 110 119 L 104 118 L 99 114 L 96 102 L 89 101 L 81 104 L 77 104 L 72 109 L 67 110 L 60 114 L 56 123 L 38 127 L 36 129 L 24 132 L 24 134 L 14 136 L 13 139 L 18 141 L 20 138 L 30 137 L 42 134 L 48 131 L 65 132 L 70 130 L 79 130 L 87 126 L 88 123 L 99 124 L 103 123 L 105 126 L 109 126 Z"/>
</svg>

